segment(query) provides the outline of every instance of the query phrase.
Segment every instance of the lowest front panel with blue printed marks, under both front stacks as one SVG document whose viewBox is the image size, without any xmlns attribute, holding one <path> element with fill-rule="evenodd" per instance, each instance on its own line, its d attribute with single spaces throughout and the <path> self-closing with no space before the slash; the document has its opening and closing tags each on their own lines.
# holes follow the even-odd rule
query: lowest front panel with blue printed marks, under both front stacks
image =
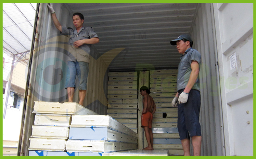
<svg viewBox="0 0 256 159">
<path fill-rule="evenodd" d="M 60 151 L 29 151 L 28 156 L 102 156 L 103 153 L 81 153 Z"/>
</svg>

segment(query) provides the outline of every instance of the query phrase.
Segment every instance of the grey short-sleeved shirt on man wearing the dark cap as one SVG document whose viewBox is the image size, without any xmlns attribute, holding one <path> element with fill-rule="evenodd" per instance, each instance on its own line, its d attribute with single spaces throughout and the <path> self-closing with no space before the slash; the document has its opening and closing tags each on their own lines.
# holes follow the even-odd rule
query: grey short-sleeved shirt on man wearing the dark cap
<svg viewBox="0 0 256 159">
<path fill-rule="evenodd" d="M 191 74 L 191 63 L 192 61 L 197 61 L 199 63 L 199 70 L 201 64 L 201 54 L 193 49 L 189 48 L 185 51 L 185 53 L 180 57 L 180 63 L 178 68 L 178 76 L 177 76 L 177 90 L 181 90 L 186 88 L 189 77 Z M 193 85 L 192 89 L 200 91 L 200 80 L 197 77 L 195 84 Z"/>
</svg>

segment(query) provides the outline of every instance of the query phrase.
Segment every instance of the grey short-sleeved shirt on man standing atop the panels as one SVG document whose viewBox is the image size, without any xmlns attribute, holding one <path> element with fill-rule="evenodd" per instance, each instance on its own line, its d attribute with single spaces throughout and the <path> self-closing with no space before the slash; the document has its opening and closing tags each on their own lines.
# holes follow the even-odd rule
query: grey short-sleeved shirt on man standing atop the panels
<svg viewBox="0 0 256 159">
<path fill-rule="evenodd" d="M 79 32 L 73 29 L 67 29 L 66 27 L 62 26 L 62 35 L 65 35 L 69 38 L 69 49 L 68 49 L 68 56 L 70 59 L 68 61 L 82 61 L 89 63 L 90 51 L 91 51 L 91 44 L 83 44 L 80 47 L 74 47 L 74 42 L 77 40 L 84 40 L 90 38 L 98 38 L 98 35 L 94 32 L 91 27 L 82 27 Z"/>
</svg>

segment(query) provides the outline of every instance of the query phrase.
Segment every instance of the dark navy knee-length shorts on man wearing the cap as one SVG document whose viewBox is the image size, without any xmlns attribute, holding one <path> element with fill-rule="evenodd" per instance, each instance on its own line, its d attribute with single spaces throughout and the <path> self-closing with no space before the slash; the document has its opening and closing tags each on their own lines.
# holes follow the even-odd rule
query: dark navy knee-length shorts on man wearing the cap
<svg viewBox="0 0 256 159">
<path fill-rule="evenodd" d="M 184 89 L 183 89 L 184 90 Z M 179 91 L 179 95 L 183 92 Z M 187 103 L 178 104 L 178 131 L 180 140 L 201 135 L 199 113 L 201 107 L 200 91 L 191 89 Z"/>
</svg>

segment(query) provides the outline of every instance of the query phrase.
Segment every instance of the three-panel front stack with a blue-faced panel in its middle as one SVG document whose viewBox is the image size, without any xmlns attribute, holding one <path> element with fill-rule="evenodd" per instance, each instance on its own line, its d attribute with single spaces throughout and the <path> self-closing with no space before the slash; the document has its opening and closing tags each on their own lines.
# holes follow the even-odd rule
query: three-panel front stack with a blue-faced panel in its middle
<svg viewBox="0 0 256 159">
<path fill-rule="evenodd" d="M 67 151 L 102 152 L 137 149 L 137 133 L 110 116 L 73 115 Z"/>
</svg>

